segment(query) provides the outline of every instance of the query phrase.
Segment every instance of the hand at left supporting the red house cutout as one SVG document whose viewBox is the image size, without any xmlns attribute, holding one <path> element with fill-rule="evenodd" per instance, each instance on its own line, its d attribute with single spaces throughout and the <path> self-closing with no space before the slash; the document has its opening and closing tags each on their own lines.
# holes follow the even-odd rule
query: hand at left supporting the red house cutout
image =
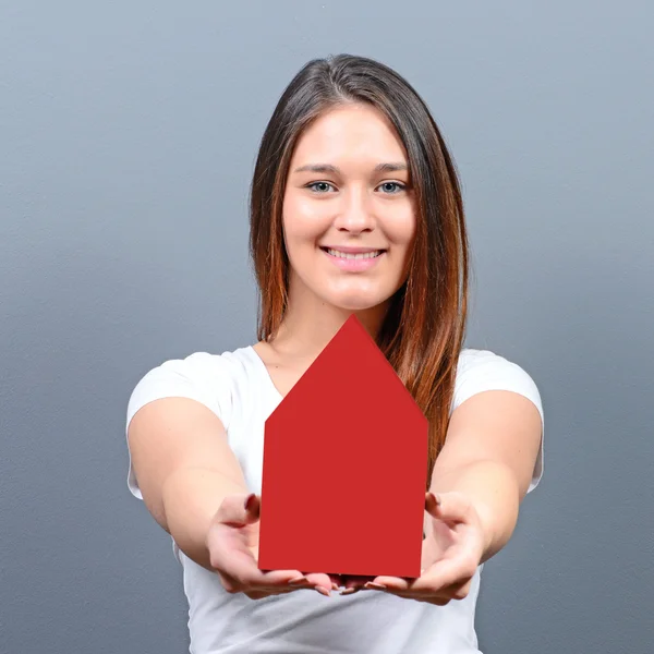
<svg viewBox="0 0 654 654">
<path fill-rule="evenodd" d="M 261 499 L 254 494 L 226 497 L 214 516 L 205 544 L 210 565 L 228 593 L 244 593 L 251 600 L 314 589 L 323 595 L 336 590 L 340 580 L 299 570 L 263 572 L 257 567 Z"/>
</svg>

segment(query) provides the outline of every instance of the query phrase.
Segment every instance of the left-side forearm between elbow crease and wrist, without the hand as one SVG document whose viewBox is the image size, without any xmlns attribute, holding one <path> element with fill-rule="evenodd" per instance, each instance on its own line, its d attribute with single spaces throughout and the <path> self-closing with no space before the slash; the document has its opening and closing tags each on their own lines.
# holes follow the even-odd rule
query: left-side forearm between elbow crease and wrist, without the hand
<svg viewBox="0 0 654 654">
<path fill-rule="evenodd" d="M 205 468 L 181 469 L 164 484 L 167 531 L 189 558 L 207 570 L 213 570 L 205 545 L 211 519 L 225 497 L 242 493 L 247 493 L 243 483 Z"/>
</svg>

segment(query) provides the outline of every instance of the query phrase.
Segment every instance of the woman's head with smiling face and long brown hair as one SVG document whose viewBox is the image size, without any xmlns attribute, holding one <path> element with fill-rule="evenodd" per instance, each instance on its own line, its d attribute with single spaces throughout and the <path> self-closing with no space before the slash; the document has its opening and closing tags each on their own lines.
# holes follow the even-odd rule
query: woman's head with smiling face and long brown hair
<svg viewBox="0 0 654 654">
<path fill-rule="evenodd" d="M 340 262 L 323 247 L 385 252 L 359 270 L 326 265 Z M 347 55 L 298 73 L 262 138 L 251 252 L 262 291 L 259 355 L 270 361 L 287 334 L 296 340 L 292 294 L 325 301 L 320 313 L 339 306 L 337 323 L 343 308 L 358 312 L 429 417 L 432 469 L 464 337 L 469 245 L 453 160 L 403 77 Z M 327 338 L 334 320 L 320 323 Z M 272 339 L 275 351 L 267 347 Z"/>
</svg>

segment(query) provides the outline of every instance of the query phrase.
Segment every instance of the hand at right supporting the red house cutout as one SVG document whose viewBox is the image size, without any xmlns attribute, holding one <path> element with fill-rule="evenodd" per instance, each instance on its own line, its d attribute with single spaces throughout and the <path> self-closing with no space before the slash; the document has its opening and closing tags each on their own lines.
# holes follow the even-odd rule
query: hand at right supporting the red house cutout
<svg viewBox="0 0 654 654">
<path fill-rule="evenodd" d="M 378 590 L 400 597 L 445 606 L 451 600 L 463 600 L 470 592 L 472 578 L 484 554 L 484 532 L 477 511 L 463 493 L 425 495 L 425 509 L 431 521 L 423 540 L 421 576 L 417 579 L 376 577 L 349 579 L 351 589 Z"/>
</svg>

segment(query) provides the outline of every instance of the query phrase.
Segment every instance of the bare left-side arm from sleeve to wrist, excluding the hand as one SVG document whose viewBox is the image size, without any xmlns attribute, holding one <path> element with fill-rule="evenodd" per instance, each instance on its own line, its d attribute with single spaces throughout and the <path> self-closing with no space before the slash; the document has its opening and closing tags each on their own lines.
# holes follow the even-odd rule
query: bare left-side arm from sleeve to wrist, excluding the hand
<svg viewBox="0 0 654 654">
<path fill-rule="evenodd" d="M 205 537 L 222 499 L 246 494 L 218 416 L 189 398 L 161 398 L 132 419 L 132 464 L 148 511 L 180 549 L 213 570 Z"/>
</svg>

